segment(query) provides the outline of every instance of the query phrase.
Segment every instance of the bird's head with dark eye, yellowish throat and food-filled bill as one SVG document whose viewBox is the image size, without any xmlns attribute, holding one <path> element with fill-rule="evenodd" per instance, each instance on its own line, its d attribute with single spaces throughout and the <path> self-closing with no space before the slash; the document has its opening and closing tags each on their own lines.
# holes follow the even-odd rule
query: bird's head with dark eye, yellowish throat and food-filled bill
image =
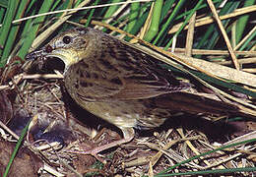
<svg viewBox="0 0 256 177">
<path fill-rule="evenodd" d="M 67 69 L 96 52 L 96 45 L 99 45 L 96 41 L 100 41 L 98 37 L 100 32 L 96 32 L 96 29 L 69 29 L 55 36 L 41 49 L 29 53 L 26 59 L 57 57 L 64 62 Z"/>
</svg>

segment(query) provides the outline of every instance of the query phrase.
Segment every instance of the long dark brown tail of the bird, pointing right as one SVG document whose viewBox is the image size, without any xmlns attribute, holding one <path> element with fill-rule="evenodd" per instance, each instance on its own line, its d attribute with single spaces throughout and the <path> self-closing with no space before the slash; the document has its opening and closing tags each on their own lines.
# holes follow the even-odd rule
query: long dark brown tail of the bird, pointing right
<svg viewBox="0 0 256 177">
<path fill-rule="evenodd" d="M 168 108 L 173 112 L 181 111 L 203 115 L 239 115 L 256 118 L 255 111 L 249 111 L 246 108 L 241 109 L 239 105 L 194 93 L 174 92 L 163 94 L 155 101 L 159 107 Z"/>
</svg>

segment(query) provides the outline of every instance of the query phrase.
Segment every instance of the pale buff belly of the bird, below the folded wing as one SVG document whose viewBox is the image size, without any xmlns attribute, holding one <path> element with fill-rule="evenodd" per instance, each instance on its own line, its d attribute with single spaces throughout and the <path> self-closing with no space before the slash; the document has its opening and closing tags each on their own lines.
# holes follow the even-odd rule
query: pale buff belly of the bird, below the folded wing
<svg viewBox="0 0 256 177">
<path fill-rule="evenodd" d="M 86 110 L 119 128 L 150 129 L 159 127 L 169 117 L 165 109 L 153 108 L 150 100 L 85 102 Z"/>
</svg>

